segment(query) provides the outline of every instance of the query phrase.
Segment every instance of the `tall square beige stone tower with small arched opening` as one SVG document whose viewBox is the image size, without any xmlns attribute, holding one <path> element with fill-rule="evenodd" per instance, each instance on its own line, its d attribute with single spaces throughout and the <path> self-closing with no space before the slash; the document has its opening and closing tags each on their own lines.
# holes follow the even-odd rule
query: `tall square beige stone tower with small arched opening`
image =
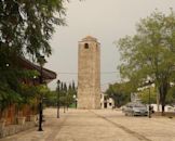
<svg viewBox="0 0 175 141">
<path fill-rule="evenodd" d="M 79 41 L 78 108 L 100 108 L 100 44 L 91 36 Z"/>
</svg>

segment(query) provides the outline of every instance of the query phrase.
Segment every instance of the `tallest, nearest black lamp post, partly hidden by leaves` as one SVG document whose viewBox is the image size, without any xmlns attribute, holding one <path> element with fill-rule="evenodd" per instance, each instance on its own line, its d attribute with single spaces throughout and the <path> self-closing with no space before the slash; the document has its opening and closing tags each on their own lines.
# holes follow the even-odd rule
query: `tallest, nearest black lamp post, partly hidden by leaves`
<svg viewBox="0 0 175 141">
<path fill-rule="evenodd" d="M 45 63 L 45 59 L 44 59 L 44 56 L 43 55 L 41 55 L 39 59 L 38 59 L 38 63 L 40 64 L 40 85 L 42 85 L 43 84 L 43 72 L 42 72 L 42 69 L 43 69 L 43 65 L 44 65 L 44 63 Z M 39 102 L 39 127 L 38 127 L 38 131 L 43 131 L 42 130 L 42 117 L 43 117 L 43 115 L 42 115 L 42 93 L 41 93 L 41 95 L 40 95 L 40 102 Z"/>
</svg>

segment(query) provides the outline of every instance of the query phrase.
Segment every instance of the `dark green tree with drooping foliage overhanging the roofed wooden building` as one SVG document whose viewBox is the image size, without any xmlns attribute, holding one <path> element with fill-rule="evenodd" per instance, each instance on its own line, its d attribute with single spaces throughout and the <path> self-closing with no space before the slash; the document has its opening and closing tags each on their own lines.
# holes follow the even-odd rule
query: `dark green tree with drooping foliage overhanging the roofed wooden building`
<svg viewBox="0 0 175 141">
<path fill-rule="evenodd" d="M 51 55 L 49 41 L 54 26 L 65 25 L 63 3 L 64 0 L 0 0 L 0 97 L 23 93 L 21 78 L 26 73 L 21 73 L 18 57 L 37 61 L 41 55 Z"/>
</svg>

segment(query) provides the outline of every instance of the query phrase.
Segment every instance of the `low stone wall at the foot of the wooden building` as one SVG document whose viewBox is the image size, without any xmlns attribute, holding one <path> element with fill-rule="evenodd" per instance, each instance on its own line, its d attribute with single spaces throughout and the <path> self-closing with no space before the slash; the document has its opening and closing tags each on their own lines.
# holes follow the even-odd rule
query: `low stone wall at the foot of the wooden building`
<svg viewBox="0 0 175 141">
<path fill-rule="evenodd" d="M 3 129 L 0 129 L 0 138 L 4 138 L 8 136 L 15 134 L 17 132 L 30 129 L 36 126 L 33 121 L 26 121 L 24 125 L 9 125 L 5 126 Z"/>
</svg>

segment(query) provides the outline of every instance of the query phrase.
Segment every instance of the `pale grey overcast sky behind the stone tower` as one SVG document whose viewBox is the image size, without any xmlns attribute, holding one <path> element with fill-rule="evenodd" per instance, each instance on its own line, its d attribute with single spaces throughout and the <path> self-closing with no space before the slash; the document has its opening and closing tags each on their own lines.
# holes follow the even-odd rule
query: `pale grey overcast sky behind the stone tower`
<svg viewBox="0 0 175 141">
<path fill-rule="evenodd" d="M 120 56 L 113 41 L 133 35 L 140 18 L 150 15 L 156 9 L 164 13 L 175 10 L 175 0 L 71 0 L 66 3 L 67 25 L 56 27 L 51 40 L 52 56 L 45 67 L 57 73 L 60 81 L 77 84 L 78 41 L 88 35 L 100 42 L 100 72 L 118 72 Z M 102 88 L 120 80 L 119 73 L 100 75 Z M 56 86 L 56 80 L 50 85 Z"/>
</svg>

